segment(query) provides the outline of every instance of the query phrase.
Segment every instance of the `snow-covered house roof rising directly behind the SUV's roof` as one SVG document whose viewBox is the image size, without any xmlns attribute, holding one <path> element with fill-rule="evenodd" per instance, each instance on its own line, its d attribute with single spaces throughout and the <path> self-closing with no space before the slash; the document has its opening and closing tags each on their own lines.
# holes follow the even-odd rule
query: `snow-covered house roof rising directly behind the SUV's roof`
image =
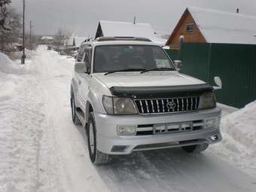
<svg viewBox="0 0 256 192">
<path fill-rule="evenodd" d="M 99 33 L 101 30 L 102 34 Z M 96 38 L 100 35 L 104 37 L 143 37 L 149 38 L 157 44 L 165 44 L 166 40 L 163 38 L 157 38 L 154 34 L 154 30 L 148 23 L 126 23 L 116 21 L 99 21 L 98 29 L 96 32 Z"/>
</svg>

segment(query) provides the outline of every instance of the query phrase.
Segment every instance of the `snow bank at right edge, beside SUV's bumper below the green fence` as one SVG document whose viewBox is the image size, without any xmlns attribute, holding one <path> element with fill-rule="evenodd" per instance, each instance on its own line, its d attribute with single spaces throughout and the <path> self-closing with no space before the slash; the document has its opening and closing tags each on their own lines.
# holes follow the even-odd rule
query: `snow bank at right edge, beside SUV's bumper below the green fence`
<svg viewBox="0 0 256 192">
<path fill-rule="evenodd" d="M 222 117 L 222 142 L 209 150 L 256 177 L 256 101 Z"/>
</svg>

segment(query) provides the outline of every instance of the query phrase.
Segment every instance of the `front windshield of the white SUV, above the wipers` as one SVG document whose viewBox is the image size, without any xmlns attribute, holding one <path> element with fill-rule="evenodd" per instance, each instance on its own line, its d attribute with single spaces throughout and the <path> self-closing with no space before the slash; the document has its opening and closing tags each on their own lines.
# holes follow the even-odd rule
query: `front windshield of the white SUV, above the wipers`
<svg viewBox="0 0 256 192">
<path fill-rule="evenodd" d="M 125 69 L 175 69 L 166 53 L 154 45 L 99 45 L 95 48 L 93 72 Z"/>
</svg>

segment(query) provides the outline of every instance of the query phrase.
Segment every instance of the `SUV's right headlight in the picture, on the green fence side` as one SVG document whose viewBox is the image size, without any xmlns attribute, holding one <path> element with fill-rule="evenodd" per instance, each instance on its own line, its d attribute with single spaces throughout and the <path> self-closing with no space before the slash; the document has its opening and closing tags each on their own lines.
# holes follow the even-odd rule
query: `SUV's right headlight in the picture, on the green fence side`
<svg viewBox="0 0 256 192">
<path fill-rule="evenodd" d="M 208 91 L 200 96 L 199 109 L 215 108 L 216 96 L 212 91 Z"/>
</svg>

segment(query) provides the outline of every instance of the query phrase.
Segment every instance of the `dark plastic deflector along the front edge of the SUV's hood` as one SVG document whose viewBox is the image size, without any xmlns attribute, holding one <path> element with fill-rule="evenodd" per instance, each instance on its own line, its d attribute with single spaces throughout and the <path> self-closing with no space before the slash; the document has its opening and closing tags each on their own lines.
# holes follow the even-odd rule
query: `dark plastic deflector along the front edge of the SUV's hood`
<svg viewBox="0 0 256 192">
<path fill-rule="evenodd" d="M 209 84 L 157 87 L 110 87 L 113 96 L 133 99 L 172 98 L 181 96 L 200 96 L 203 92 L 213 91 Z"/>
</svg>

